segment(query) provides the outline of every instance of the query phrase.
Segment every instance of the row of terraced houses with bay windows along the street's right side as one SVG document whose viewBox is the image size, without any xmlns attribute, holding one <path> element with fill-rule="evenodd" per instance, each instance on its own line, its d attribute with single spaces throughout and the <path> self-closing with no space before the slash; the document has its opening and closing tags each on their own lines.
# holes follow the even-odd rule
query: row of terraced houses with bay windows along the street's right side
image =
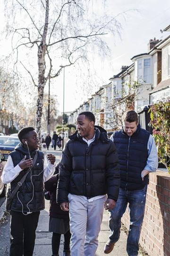
<svg viewBox="0 0 170 256">
<path fill-rule="evenodd" d="M 165 31 L 170 32 L 170 26 Z M 70 124 L 75 124 L 79 112 L 88 110 L 94 113 L 96 125 L 109 132 L 120 128 L 126 110 L 140 111 L 170 96 L 170 35 L 163 40 L 150 39 L 147 53 L 139 53 L 131 60 L 130 66 L 122 66 L 108 84 L 70 114 Z"/>
</svg>

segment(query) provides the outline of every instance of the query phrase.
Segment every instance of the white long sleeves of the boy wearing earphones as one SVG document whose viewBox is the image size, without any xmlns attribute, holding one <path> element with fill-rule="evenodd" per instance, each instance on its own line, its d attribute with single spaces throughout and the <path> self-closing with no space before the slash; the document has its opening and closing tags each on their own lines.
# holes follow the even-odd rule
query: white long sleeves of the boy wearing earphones
<svg viewBox="0 0 170 256">
<path fill-rule="evenodd" d="M 49 180 L 51 178 L 52 174 L 55 171 L 55 166 L 56 166 L 55 164 L 54 165 L 52 165 L 51 163 L 48 164 L 47 158 L 44 155 L 43 182 L 46 182 L 47 180 Z M 23 169 L 21 169 L 19 167 L 19 165 L 16 165 L 14 167 L 12 157 L 9 155 L 7 163 L 2 172 L 2 176 L 1 176 L 2 182 L 4 184 L 12 182 L 22 170 Z"/>
</svg>

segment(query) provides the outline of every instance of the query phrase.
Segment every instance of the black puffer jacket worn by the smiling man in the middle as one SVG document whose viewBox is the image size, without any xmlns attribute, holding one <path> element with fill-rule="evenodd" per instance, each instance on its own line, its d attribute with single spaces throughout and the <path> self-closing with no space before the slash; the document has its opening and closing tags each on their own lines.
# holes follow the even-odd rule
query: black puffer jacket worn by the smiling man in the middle
<svg viewBox="0 0 170 256">
<path fill-rule="evenodd" d="M 68 193 L 87 199 L 106 194 L 117 201 L 120 185 L 119 160 L 106 131 L 95 127 L 95 140 L 88 146 L 78 132 L 69 136 L 60 165 L 57 202 L 68 202 Z"/>
</svg>

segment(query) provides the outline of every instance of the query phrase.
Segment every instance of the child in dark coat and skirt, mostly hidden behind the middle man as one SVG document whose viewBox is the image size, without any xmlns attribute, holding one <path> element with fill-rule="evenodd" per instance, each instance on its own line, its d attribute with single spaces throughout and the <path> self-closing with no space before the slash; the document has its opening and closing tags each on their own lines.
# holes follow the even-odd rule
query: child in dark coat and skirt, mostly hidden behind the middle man
<svg viewBox="0 0 170 256">
<path fill-rule="evenodd" d="M 50 222 L 49 231 L 52 232 L 52 256 L 59 256 L 61 234 L 64 234 L 63 256 L 70 256 L 70 230 L 68 211 L 61 210 L 56 202 L 57 183 L 59 179 L 59 163 L 56 165 L 53 176 L 44 183 L 45 190 L 50 192 Z"/>
</svg>

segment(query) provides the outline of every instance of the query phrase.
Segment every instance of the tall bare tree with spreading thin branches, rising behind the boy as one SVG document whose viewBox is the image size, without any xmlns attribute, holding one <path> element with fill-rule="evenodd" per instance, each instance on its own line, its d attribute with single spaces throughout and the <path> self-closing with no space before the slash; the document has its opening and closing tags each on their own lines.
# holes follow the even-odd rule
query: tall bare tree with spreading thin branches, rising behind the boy
<svg viewBox="0 0 170 256">
<path fill-rule="evenodd" d="M 118 17 L 95 14 L 90 0 L 5 0 L 5 3 L 6 32 L 11 36 L 14 67 L 17 70 L 20 64 L 38 90 L 36 129 L 40 136 L 44 86 L 48 79 L 59 76 L 63 67 L 88 61 L 93 52 L 106 54 L 109 47 L 103 36 L 119 33 L 121 24 Z M 24 48 L 27 52 L 23 56 Z M 35 54 L 37 66 L 33 66 Z"/>
</svg>

